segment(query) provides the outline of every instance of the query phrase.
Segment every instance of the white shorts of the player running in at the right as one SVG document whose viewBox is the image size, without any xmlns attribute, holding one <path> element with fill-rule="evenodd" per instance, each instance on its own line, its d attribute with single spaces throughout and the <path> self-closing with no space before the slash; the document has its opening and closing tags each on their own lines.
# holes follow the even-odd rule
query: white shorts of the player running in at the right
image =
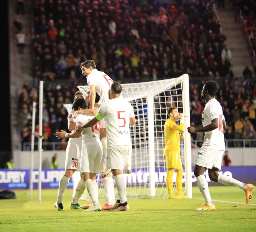
<svg viewBox="0 0 256 232">
<path fill-rule="evenodd" d="M 221 169 L 223 150 L 212 150 L 201 147 L 197 153 L 195 164 L 205 168 Z"/>
</svg>

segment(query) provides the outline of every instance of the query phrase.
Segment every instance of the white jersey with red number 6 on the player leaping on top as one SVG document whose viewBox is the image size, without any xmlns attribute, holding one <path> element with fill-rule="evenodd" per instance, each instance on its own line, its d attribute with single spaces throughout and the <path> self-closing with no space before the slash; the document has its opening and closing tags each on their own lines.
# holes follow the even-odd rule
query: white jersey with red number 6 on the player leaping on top
<svg viewBox="0 0 256 232">
<path fill-rule="evenodd" d="M 95 91 L 100 95 L 102 103 L 109 101 L 108 89 L 113 83 L 113 80 L 104 72 L 100 72 L 96 68 L 87 76 L 87 84 L 95 85 Z"/>
</svg>

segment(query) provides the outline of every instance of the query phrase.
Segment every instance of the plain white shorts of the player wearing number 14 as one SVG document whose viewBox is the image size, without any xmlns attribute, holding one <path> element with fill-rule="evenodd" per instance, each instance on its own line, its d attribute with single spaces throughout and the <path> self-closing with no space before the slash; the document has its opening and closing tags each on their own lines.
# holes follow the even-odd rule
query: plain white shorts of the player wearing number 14
<svg viewBox="0 0 256 232">
<path fill-rule="evenodd" d="M 81 152 L 81 173 L 100 173 L 100 160 L 102 157 L 101 142 L 82 147 Z"/>
</svg>

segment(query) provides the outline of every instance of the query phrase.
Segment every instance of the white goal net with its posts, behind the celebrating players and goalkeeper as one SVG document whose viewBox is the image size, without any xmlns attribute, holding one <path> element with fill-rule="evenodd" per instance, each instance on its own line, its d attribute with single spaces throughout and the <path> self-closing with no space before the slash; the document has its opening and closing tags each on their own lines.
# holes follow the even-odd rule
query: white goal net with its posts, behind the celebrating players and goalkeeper
<svg viewBox="0 0 256 232">
<path fill-rule="evenodd" d="M 84 96 L 89 91 L 88 85 L 77 87 Z M 168 196 L 164 123 L 167 119 L 167 109 L 170 107 L 177 107 L 178 111 L 185 115 L 185 127 L 181 135 L 184 139 L 180 140 L 181 160 L 184 168 L 182 181 L 184 194 L 192 198 L 191 144 L 190 134 L 186 130 L 190 125 L 188 75 L 159 81 L 122 84 L 122 88 L 122 96 L 132 104 L 136 117 L 136 124 L 130 125 L 132 173 L 124 174 L 127 199 L 167 198 Z M 80 175 L 77 176 L 78 181 Z M 172 180 L 175 187 L 176 173 Z M 105 200 L 100 175 L 97 176 L 97 181 L 99 200 Z M 75 188 L 76 183 L 74 183 L 74 191 Z M 173 188 L 173 191 L 177 194 L 176 188 Z M 88 200 L 89 196 L 84 194 L 82 199 Z"/>
</svg>

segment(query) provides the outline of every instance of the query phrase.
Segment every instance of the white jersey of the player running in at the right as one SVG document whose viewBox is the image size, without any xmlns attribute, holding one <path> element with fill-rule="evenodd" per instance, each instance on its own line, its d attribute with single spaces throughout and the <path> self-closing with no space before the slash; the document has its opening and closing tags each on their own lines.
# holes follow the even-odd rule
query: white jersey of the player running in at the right
<svg viewBox="0 0 256 232">
<path fill-rule="evenodd" d="M 224 133 L 222 120 L 225 118 L 223 115 L 220 102 L 216 99 L 209 100 L 204 107 L 202 114 L 202 124 L 207 126 L 211 121 L 217 118 L 219 127 L 213 131 L 204 132 L 204 143 L 202 147 L 208 147 L 212 150 L 225 150 Z"/>
</svg>

